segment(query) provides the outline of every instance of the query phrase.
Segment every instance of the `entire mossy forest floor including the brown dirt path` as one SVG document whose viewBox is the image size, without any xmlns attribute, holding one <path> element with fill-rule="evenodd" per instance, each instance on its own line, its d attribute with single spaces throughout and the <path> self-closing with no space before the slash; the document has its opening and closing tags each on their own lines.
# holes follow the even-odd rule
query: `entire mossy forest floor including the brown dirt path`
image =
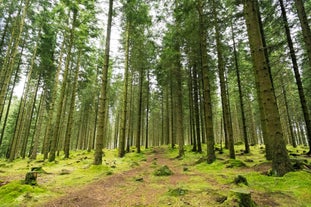
<svg viewBox="0 0 311 207">
<path fill-rule="evenodd" d="M 239 206 L 230 199 L 230 191 L 243 189 L 257 206 L 311 205 L 311 158 L 300 154 L 306 148 L 290 149 L 295 156 L 292 163 L 301 169 L 283 177 L 268 175 L 271 162 L 265 160 L 263 147 L 251 149 L 251 154 L 237 153 L 236 160 L 224 150 L 213 164 L 190 147 L 177 159 L 178 150 L 167 146 L 128 153 L 124 158 L 118 158 L 115 150 L 105 151 L 101 166 L 92 165 L 93 154 L 82 151 L 53 163 L 1 161 L 0 203 L 7 207 Z M 37 185 L 22 184 L 26 172 L 39 166 Z M 162 166 L 172 174 L 156 176 Z M 235 183 L 238 176 L 246 182 Z"/>
</svg>

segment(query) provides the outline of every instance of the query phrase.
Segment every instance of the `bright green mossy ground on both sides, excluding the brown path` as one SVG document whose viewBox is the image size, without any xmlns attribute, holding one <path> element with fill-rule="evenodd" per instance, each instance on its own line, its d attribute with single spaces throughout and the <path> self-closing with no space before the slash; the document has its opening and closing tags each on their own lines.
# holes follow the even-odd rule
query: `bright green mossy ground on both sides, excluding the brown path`
<svg viewBox="0 0 311 207">
<path fill-rule="evenodd" d="M 1 206 L 40 206 L 40 203 L 75 191 L 91 182 L 139 168 L 146 164 L 149 157 L 149 170 L 140 169 L 121 186 L 122 192 L 129 191 L 131 194 L 131 187 L 135 188 L 136 198 L 140 196 L 142 203 L 153 202 L 157 206 L 230 206 L 226 201 L 230 190 L 244 188 L 251 192 L 252 199 L 259 206 L 311 206 L 310 170 L 290 172 L 284 177 L 268 176 L 271 162 L 265 160 L 262 146 L 251 147 L 249 154 L 242 153 L 243 146 L 235 146 L 236 160 L 229 159 L 227 150 L 223 154 L 216 152 L 217 160 L 212 164 L 204 161 L 206 152 L 192 152 L 191 146 L 185 149 L 185 156 L 175 159 L 178 150 L 164 146 L 161 148 L 161 160 L 149 157 L 149 154 L 156 156 L 153 149 L 143 150 L 141 154 L 129 153 L 124 158 L 117 158 L 116 150 L 105 150 L 103 165 L 100 166 L 92 165 L 93 152 L 84 151 L 72 152 L 70 159 L 59 156 L 52 163 L 20 159 L 7 163 L 1 160 L 0 185 L 6 184 L 0 187 L 0 203 Z M 310 165 L 310 157 L 300 155 L 306 150 L 305 147 L 288 149 L 296 154 L 291 156 L 292 159 L 303 159 Z M 152 172 L 164 164 L 169 166 L 173 175 L 153 175 Z M 23 185 L 21 180 L 34 166 L 42 166 L 46 173 L 39 174 L 37 186 Z M 62 170 L 69 174 L 60 175 Z M 238 175 L 247 179 L 248 186 L 234 183 Z M 137 182 L 134 178 L 142 180 Z M 138 193 L 140 189 L 142 192 Z M 153 201 L 149 198 L 148 189 L 154 192 L 153 197 L 156 198 Z"/>
</svg>

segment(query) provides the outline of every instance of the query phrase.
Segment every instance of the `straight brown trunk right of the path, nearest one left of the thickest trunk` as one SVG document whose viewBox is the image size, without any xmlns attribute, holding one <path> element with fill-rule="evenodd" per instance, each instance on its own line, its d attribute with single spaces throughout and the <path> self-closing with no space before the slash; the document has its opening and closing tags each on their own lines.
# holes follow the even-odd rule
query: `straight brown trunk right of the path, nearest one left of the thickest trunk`
<svg viewBox="0 0 311 207">
<path fill-rule="evenodd" d="M 207 60 L 207 35 L 206 25 L 204 24 L 203 3 L 198 0 L 198 13 L 199 13 L 199 31 L 200 31 L 200 63 L 203 77 L 203 102 L 204 102 L 204 114 L 205 114 L 205 136 L 207 144 L 207 162 L 212 163 L 216 160 L 215 155 L 215 139 L 213 128 L 213 110 L 212 110 L 212 97 L 210 77 L 208 74 L 208 60 Z"/>
</svg>

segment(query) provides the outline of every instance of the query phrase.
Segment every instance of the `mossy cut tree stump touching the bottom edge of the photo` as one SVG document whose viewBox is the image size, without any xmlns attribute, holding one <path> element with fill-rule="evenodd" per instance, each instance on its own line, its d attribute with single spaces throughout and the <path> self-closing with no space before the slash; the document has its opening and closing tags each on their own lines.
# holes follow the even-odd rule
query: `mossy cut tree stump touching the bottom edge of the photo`
<svg viewBox="0 0 311 207">
<path fill-rule="evenodd" d="M 233 189 L 230 190 L 228 196 L 228 206 L 239 206 L 239 207 L 256 207 L 257 204 L 251 198 L 251 192 L 246 189 Z"/>
</svg>

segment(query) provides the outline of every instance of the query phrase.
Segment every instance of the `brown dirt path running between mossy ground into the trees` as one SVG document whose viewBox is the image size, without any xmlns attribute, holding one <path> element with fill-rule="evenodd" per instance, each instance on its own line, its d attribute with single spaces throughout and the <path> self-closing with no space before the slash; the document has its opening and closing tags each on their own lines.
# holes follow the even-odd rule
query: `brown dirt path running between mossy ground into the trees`
<svg viewBox="0 0 311 207">
<path fill-rule="evenodd" d="M 174 174 L 168 177 L 153 176 L 155 167 L 162 165 L 167 165 Z M 155 153 L 147 155 L 147 161 L 140 166 L 111 175 L 82 189 L 72 190 L 45 206 L 158 206 L 159 197 L 168 192 L 169 187 L 178 186 L 180 182 L 189 179 L 190 176 L 183 173 L 180 162 L 165 157 L 163 149 L 159 148 Z"/>
</svg>

